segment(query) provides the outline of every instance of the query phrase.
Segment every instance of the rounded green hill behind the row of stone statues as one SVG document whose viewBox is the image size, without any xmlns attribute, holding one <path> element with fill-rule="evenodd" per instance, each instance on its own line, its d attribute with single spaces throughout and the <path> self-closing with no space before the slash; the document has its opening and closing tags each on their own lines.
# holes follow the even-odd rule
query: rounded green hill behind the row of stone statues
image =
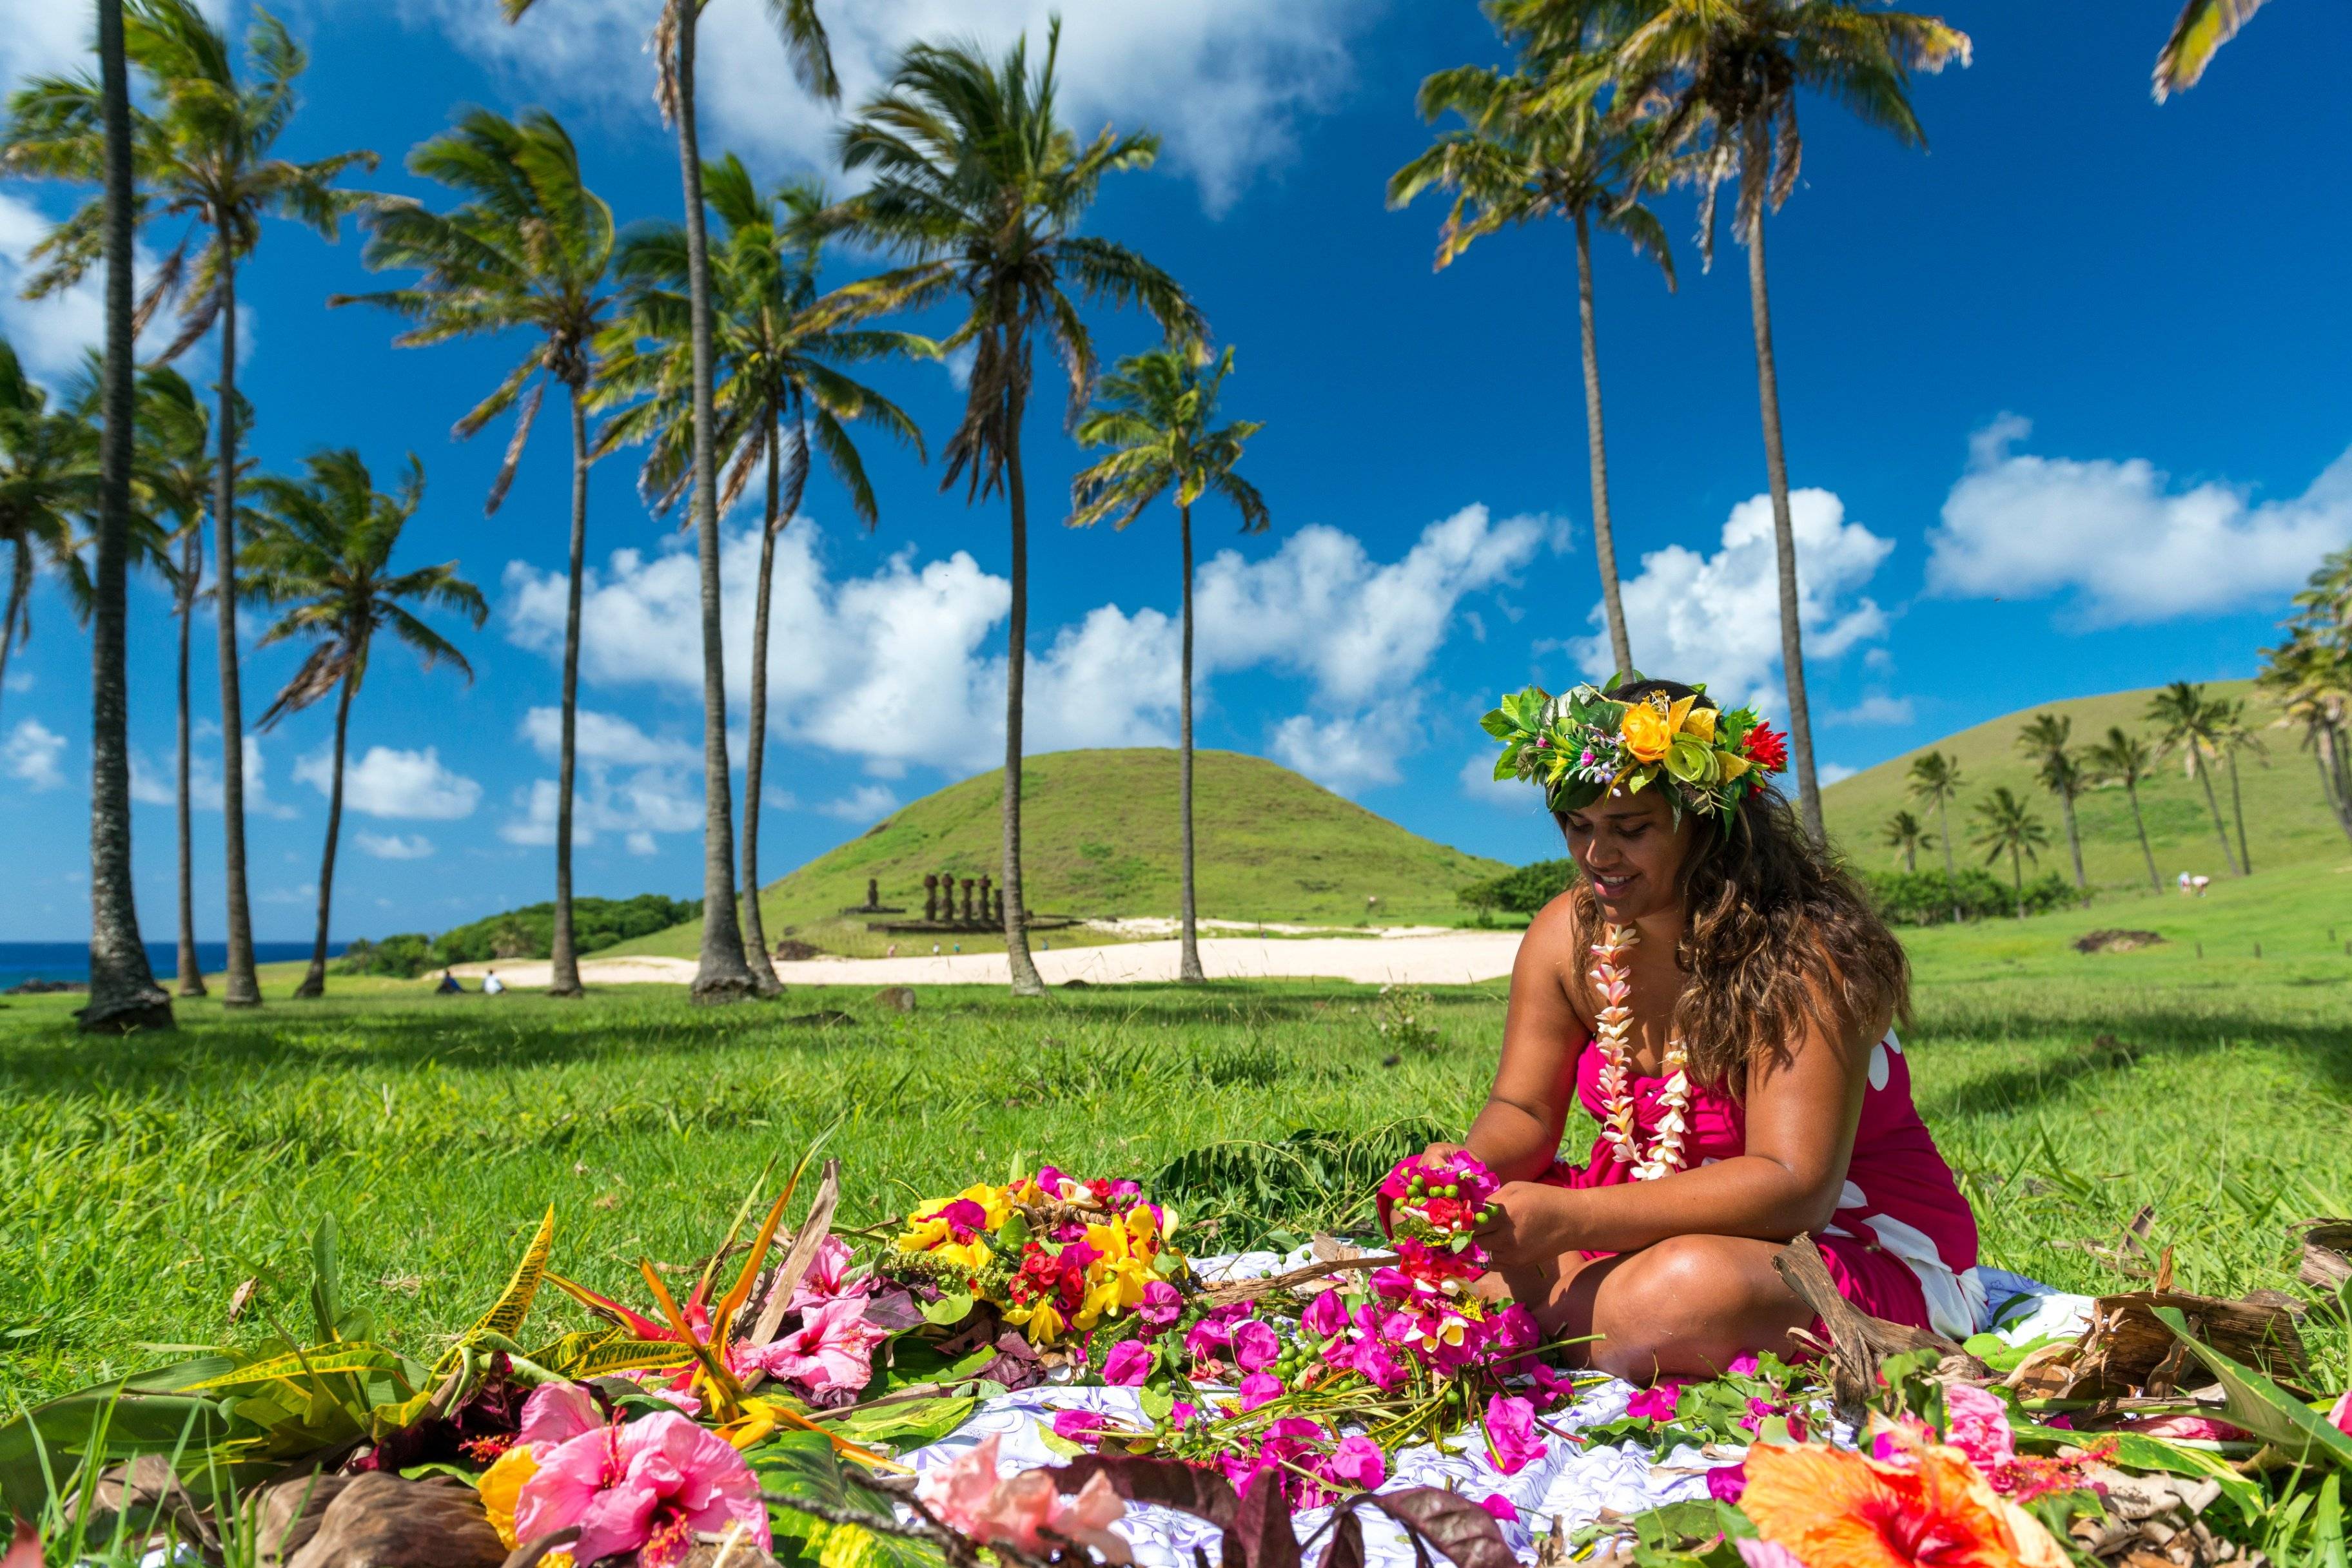
<svg viewBox="0 0 2352 1568">
<path fill-rule="evenodd" d="M 1033 912 L 1176 914 L 1174 750 L 1047 752 L 1030 757 L 1021 778 Z M 920 917 L 927 872 L 997 875 L 1002 799 L 1002 769 L 978 773 L 771 882 L 760 896 L 769 940 L 795 936 L 828 952 L 880 954 L 891 938 L 868 933 L 868 917 L 840 914 L 866 903 L 866 879 L 880 882 L 884 905 Z M 1463 917 L 1454 891 L 1508 870 L 1406 832 L 1263 757 L 1195 752 L 1192 799 L 1202 919 L 1364 924 L 1364 900 L 1378 898 L 1378 924 L 1454 924 Z M 691 954 L 694 940 L 687 924 L 614 952 Z M 964 952 L 1002 947 L 1002 938 L 983 933 L 957 940 Z"/>
</svg>

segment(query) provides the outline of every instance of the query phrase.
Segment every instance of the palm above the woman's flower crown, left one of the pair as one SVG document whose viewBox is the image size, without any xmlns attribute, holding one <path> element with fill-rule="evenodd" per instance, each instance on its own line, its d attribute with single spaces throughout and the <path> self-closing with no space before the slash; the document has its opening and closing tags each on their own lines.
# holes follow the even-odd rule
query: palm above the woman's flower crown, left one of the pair
<svg viewBox="0 0 2352 1568">
<path fill-rule="evenodd" d="M 1538 219 L 1576 223 L 1576 320 L 1585 355 L 1585 451 L 1592 473 L 1592 550 L 1599 555 L 1609 656 L 1632 670 L 1632 639 L 1618 597 L 1616 531 L 1609 517 L 1609 449 L 1602 440 L 1602 362 L 1592 327 L 1592 226 L 1646 252 L 1675 287 L 1675 256 L 1658 216 L 1637 200 L 1635 169 L 1653 169 L 1646 127 L 1604 118 L 1606 82 L 1592 56 L 1571 54 L 1543 78 L 1461 66 L 1421 82 L 1421 118 L 1458 113 L 1463 129 L 1442 134 L 1388 181 L 1388 205 L 1404 207 L 1430 186 L 1454 193 L 1437 233 L 1437 268 L 1472 240 Z M 1656 176 L 1651 176 L 1656 179 Z"/>
</svg>

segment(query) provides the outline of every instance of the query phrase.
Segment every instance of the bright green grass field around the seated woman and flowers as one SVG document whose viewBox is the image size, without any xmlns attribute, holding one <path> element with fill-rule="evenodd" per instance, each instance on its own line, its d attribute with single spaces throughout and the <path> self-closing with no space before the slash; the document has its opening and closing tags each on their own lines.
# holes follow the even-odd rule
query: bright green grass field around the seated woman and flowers
<svg viewBox="0 0 2352 1568">
<path fill-rule="evenodd" d="M 2091 926 L 2166 940 L 2086 957 Z M 2284 1284 L 2288 1220 L 2352 1213 L 2352 863 L 1910 940 L 1910 1060 L 1987 1260 L 2122 1286 L 2082 1244 L 2145 1204 L 2183 1284 L 2246 1291 Z M 851 1222 L 1021 1157 L 1223 1213 L 1202 1248 L 1244 1215 L 1338 1222 L 1411 1124 L 1463 1124 L 1503 1018 L 1501 985 L 1442 992 L 1437 1041 L 1388 1067 L 1376 994 L 1327 983 L 927 990 L 913 1016 L 861 992 L 701 1011 L 666 987 L 339 985 L 242 1018 L 181 1004 L 176 1037 L 129 1041 L 80 1039 L 71 1004 L 0 1011 L 0 1399 L 301 1321 L 327 1213 L 348 1288 L 414 1349 L 485 1305 L 548 1201 L 557 1267 L 628 1291 L 635 1258 L 691 1265 L 762 1161 L 835 1119 Z"/>
</svg>

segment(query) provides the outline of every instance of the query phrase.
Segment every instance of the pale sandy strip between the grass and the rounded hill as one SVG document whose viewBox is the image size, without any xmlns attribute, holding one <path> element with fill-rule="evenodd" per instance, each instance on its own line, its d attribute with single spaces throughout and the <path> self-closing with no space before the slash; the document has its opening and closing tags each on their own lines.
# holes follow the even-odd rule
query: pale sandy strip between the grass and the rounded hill
<svg viewBox="0 0 2352 1568">
<path fill-rule="evenodd" d="M 1047 985 L 1084 980 L 1122 985 L 1129 980 L 1174 980 L 1176 943 L 1120 943 L 1112 947 L 1037 950 L 1037 973 Z M 1200 943 L 1202 969 L 1214 980 L 1322 978 L 1364 985 L 1468 985 L 1510 973 L 1519 952 L 1517 931 L 1449 931 L 1444 936 L 1308 938 L 1258 940 L 1247 936 L 1211 936 Z M 513 964 L 459 964 L 456 973 L 480 978 L 496 969 L 499 978 L 520 990 L 541 990 L 548 964 L 520 959 Z M 776 964 L 786 985 L 1007 985 L 1002 952 L 953 952 L 908 959 L 802 959 Z M 588 959 L 581 964 L 588 985 L 694 980 L 694 959 Z"/>
</svg>

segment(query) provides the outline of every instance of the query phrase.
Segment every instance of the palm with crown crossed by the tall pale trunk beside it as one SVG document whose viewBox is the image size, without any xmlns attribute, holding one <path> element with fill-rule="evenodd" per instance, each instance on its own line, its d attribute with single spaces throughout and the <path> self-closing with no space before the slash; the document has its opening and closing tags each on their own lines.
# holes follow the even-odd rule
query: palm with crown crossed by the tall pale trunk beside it
<svg viewBox="0 0 2352 1568">
<path fill-rule="evenodd" d="M 720 510 L 729 510 L 755 470 L 767 473 L 767 520 L 760 531 L 760 585 L 750 632 L 750 715 L 743 748 L 743 957 L 764 994 L 783 990 L 767 952 L 760 919 L 760 780 L 767 764 L 767 646 L 776 538 L 800 510 L 809 482 L 811 444 L 849 491 L 849 505 L 870 529 L 880 520 L 866 463 L 847 421 L 870 418 L 898 442 L 924 454 L 915 421 L 889 397 L 833 364 L 884 355 L 931 355 L 929 339 L 910 331 L 856 327 L 870 310 L 854 301 L 816 296 L 821 268 L 823 190 L 781 186 L 762 197 L 734 153 L 703 169 L 703 195 L 727 235 L 713 266 L 720 435 L 727 470 Z M 781 212 L 779 212 L 781 209 Z M 597 402 L 640 397 L 607 421 L 597 451 L 616 442 L 652 442 L 642 489 L 654 510 L 668 512 L 691 482 L 694 461 L 694 339 L 687 284 L 687 237 L 675 223 L 630 230 L 621 249 L 628 315 L 604 341 L 604 386 Z"/>
</svg>

